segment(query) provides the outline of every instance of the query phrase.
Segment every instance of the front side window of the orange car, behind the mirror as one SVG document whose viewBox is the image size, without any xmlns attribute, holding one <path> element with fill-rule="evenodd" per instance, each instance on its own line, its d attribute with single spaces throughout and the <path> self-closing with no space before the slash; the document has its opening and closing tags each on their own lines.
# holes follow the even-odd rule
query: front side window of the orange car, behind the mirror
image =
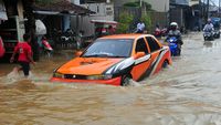
<svg viewBox="0 0 221 125">
<path fill-rule="evenodd" d="M 145 54 L 148 54 L 148 49 L 147 49 L 147 44 L 145 42 L 145 39 L 138 39 L 137 40 L 137 44 L 136 44 L 136 52 L 145 52 Z"/>
</svg>

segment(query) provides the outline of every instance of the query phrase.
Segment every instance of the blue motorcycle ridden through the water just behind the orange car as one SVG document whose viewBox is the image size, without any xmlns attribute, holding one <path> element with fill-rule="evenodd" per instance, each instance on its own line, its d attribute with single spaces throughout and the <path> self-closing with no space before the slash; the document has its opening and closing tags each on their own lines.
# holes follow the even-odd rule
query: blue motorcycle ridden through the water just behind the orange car
<svg viewBox="0 0 221 125">
<path fill-rule="evenodd" d="M 167 38 L 166 42 L 169 45 L 170 52 L 172 56 L 178 56 L 181 53 L 181 50 L 178 46 L 178 39 L 176 37 Z"/>
</svg>

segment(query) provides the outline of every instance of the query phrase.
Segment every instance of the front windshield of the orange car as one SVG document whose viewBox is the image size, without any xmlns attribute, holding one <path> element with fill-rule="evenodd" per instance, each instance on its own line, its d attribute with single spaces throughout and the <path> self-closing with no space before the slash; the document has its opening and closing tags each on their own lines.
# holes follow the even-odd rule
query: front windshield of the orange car
<svg viewBox="0 0 221 125">
<path fill-rule="evenodd" d="M 128 58 L 133 48 L 133 39 L 99 39 L 84 53 L 83 58 Z"/>
</svg>

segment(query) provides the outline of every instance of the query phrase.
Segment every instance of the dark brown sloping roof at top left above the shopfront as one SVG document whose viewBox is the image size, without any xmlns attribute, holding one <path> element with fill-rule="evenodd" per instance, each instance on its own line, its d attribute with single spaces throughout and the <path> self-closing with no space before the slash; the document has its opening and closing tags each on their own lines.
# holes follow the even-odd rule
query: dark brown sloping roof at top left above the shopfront
<svg viewBox="0 0 221 125">
<path fill-rule="evenodd" d="M 76 6 L 70 1 L 61 0 L 54 3 L 34 3 L 34 11 L 52 11 L 67 14 L 86 14 L 86 13 L 95 13 L 86 8 L 81 6 Z"/>
</svg>

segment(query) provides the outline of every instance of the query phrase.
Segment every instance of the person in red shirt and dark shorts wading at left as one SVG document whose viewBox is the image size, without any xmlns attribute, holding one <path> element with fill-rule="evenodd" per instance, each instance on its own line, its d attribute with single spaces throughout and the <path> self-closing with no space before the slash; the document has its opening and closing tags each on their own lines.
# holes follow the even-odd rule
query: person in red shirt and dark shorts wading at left
<svg viewBox="0 0 221 125">
<path fill-rule="evenodd" d="M 31 37 L 29 34 L 24 34 L 23 40 L 23 42 L 18 42 L 17 46 L 14 48 L 13 54 L 10 59 L 10 62 L 12 63 L 14 61 L 14 56 L 18 53 L 18 62 L 20 63 L 21 67 L 18 67 L 17 70 L 22 70 L 24 76 L 29 76 L 30 62 L 33 64 L 35 63 L 32 59 L 32 50 L 30 46 Z"/>
</svg>

